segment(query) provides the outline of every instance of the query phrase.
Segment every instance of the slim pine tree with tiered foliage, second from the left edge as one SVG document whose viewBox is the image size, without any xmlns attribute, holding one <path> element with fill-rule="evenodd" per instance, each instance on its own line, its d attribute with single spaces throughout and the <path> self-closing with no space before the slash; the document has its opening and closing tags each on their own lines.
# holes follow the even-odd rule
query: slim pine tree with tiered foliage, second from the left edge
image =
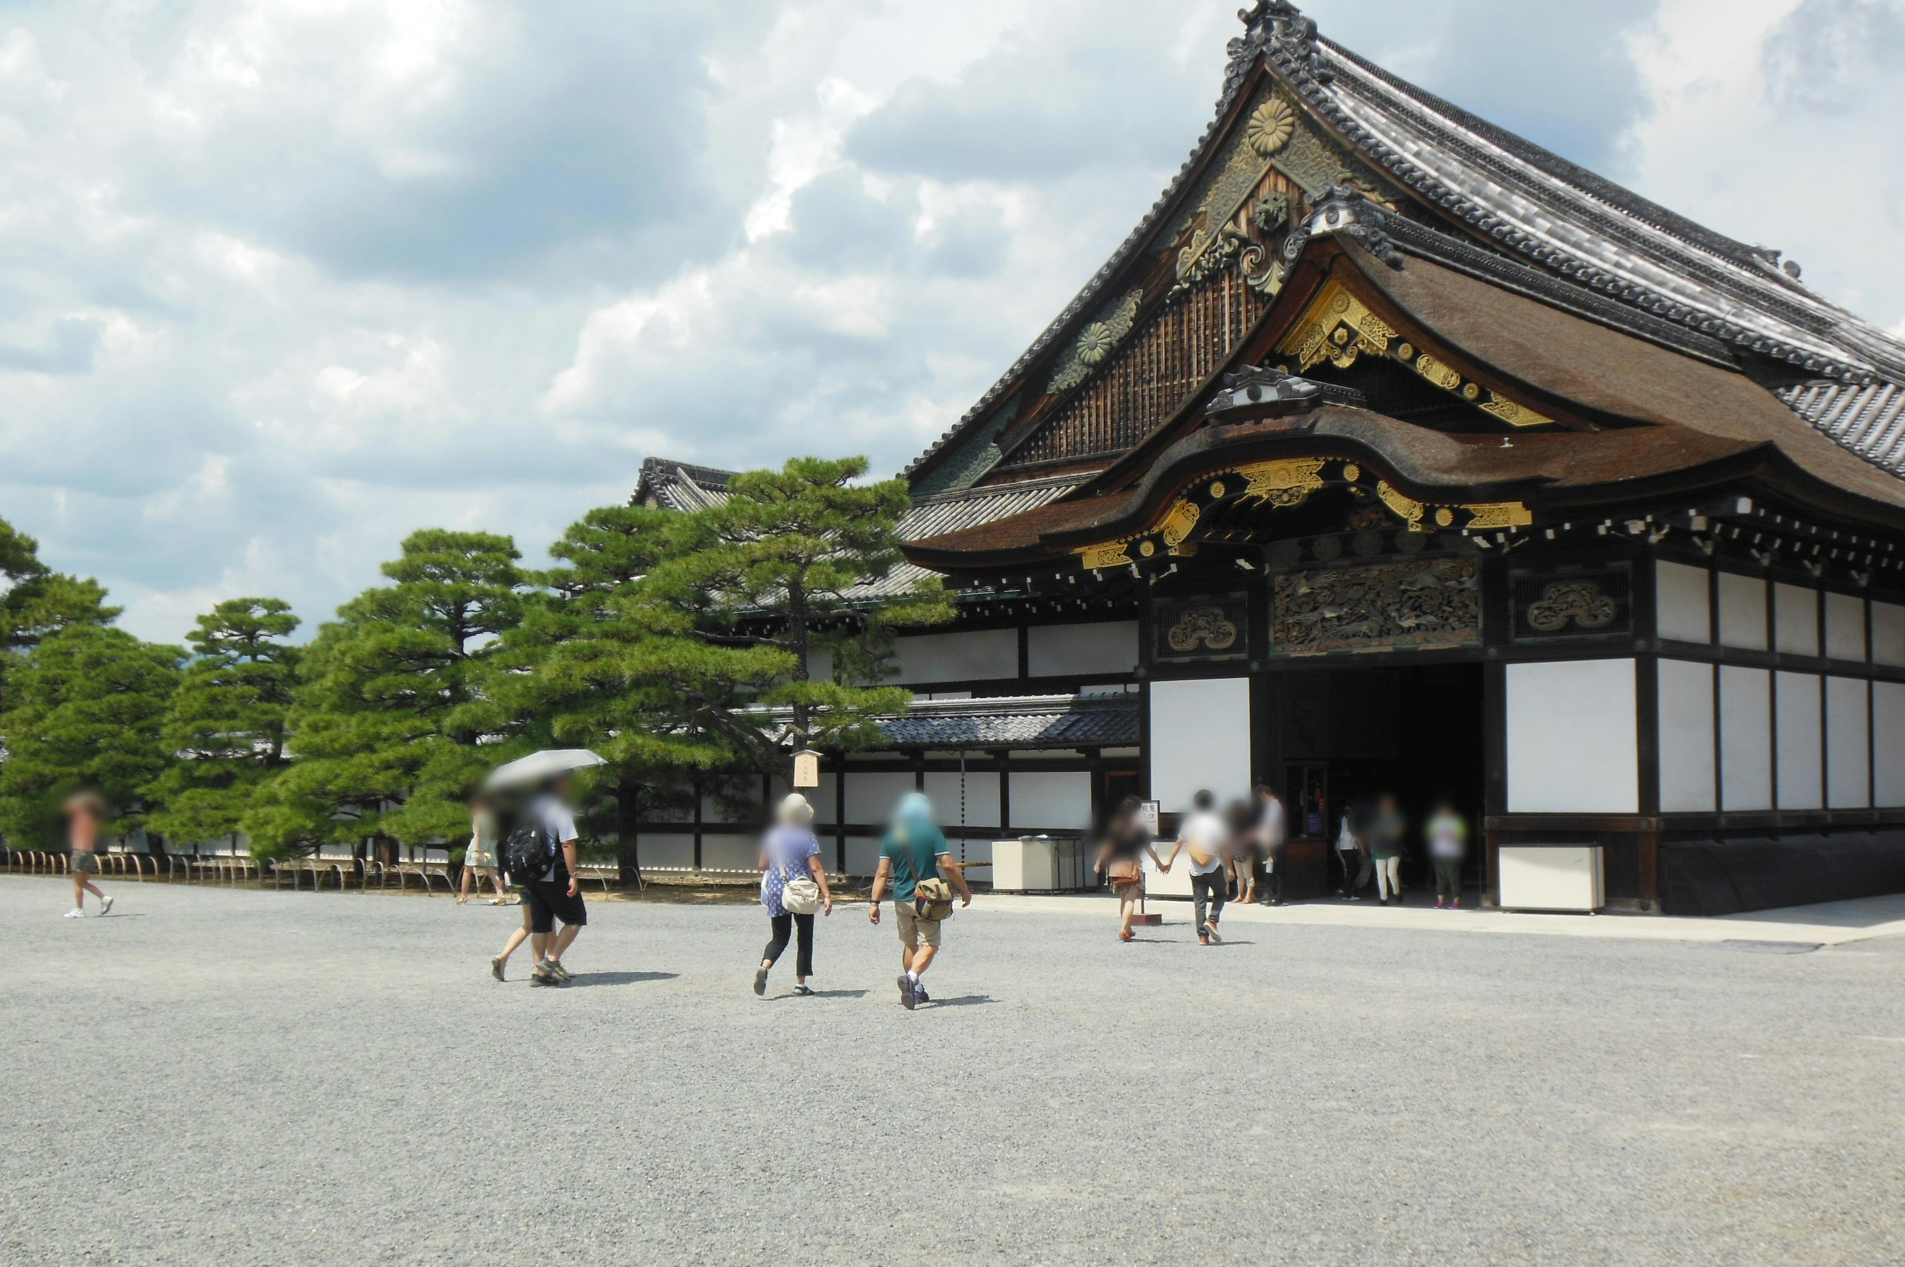
<svg viewBox="0 0 1905 1267">
<path fill-rule="evenodd" d="M 198 617 L 196 655 L 162 728 L 173 762 L 149 787 L 150 827 L 173 840 L 240 831 L 259 787 L 286 764 L 297 629 L 278 598 L 231 598 Z"/>
</svg>

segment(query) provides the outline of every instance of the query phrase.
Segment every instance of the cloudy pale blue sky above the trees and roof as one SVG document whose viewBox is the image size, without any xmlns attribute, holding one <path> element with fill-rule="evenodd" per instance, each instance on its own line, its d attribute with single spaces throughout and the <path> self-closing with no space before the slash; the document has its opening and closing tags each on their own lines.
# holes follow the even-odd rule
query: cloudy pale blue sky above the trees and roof
<svg viewBox="0 0 1905 1267">
<path fill-rule="evenodd" d="M 905 465 L 1151 206 L 1238 0 L 0 0 L 0 516 L 177 640 L 642 457 Z M 1311 0 L 1905 324 L 1905 0 Z M 307 631 L 309 633 L 309 631 Z"/>
</svg>

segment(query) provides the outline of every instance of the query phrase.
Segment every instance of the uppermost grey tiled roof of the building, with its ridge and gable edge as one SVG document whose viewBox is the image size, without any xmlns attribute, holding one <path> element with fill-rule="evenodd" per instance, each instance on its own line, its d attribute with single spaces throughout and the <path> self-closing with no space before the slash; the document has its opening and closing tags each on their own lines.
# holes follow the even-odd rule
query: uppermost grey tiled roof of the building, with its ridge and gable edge
<svg viewBox="0 0 1905 1267">
<path fill-rule="evenodd" d="M 1255 0 L 1238 13 L 1246 30 L 1231 42 L 1231 63 L 1215 118 L 1183 170 L 1103 269 L 1065 305 L 1017 362 L 909 473 L 989 425 L 994 404 L 1055 345 L 1069 339 L 1105 295 L 1130 284 L 1133 261 L 1179 206 L 1193 173 L 1215 152 L 1225 120 L 1259 67 L 1360 158 L 1408 187 L 1425 208 L 1465 227 L 1503 257 L 1516 257 L 1585 295 L 1636 316 L 1678 326 L 1728 354 L 1783 360 L 1817 379 L 1905 392 L 1905 343 L 1800 282 L 1781 253 L 1747 246 L 1680 217 L 1612 181 L 1551 154 L 1353 51 L 1320 38 L 1316 23 L 1288 0 Z M 1391 217 L 1402 219 L 1402 217 Z M 1608 320 L 1593 312 L 1593 320 Z M 1633 322 L 1615 322 L 1631 328 Z M 1842 391 L 1846 402 L 1855 392 Z M 1821 427 L 1825 434 L 1840 436 Z M 1871 442 L 1852 452 L 1897 474 Z"/>
</svg>

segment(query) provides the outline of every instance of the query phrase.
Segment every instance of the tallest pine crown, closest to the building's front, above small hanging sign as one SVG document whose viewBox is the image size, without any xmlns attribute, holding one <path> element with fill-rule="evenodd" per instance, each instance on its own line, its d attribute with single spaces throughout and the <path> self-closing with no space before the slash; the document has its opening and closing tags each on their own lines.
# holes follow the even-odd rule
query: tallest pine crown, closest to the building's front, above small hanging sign
<svg viewBox="0 0 1905 1267">
<path fill-rule="evenodd" d="M 865 457 L 796 457 L 779 471 L 737 474 L 724 505 L 676 516 L 665 556 L 638 587 L 636 600 L 659 623 L 703 648 L 789 657 L 785 680 L 756 699 L 787 707 L 791 726 L 766 741 L 754 726 L 733 735 L 756 766 L 798 747 L 876 741 L 874 718 L 911 701 L 909 692 L 876 686 L 892 631 L 952 619 L 937 577 L 897 594 L 855 593 L 905 564 L 897 528 L 907 484 L 855 484 L 865 474 Z M 832 652 L 831 680 L 810 674 L 817 648 Z"/>
</svg>

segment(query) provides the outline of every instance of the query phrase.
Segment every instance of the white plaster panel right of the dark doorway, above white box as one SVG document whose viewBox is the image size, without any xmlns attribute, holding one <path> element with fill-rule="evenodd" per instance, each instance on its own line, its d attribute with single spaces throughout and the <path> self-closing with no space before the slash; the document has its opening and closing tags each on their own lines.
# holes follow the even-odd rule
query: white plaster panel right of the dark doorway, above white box
<svg viewBox="0 0 1905 1267">
<path fill-rule="evenodd" d="M 1634 661 L 1509 665 L 1509 812 L 1640 808 Z"/>
</svg>

